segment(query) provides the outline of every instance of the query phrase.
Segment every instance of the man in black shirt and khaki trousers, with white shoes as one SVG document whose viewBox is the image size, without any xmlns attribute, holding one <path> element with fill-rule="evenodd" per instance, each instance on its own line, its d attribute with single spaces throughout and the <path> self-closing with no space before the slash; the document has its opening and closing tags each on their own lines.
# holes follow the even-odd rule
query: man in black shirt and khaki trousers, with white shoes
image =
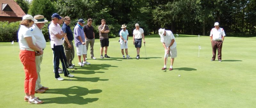
<svg viewBox="0 0 256 108">
<path fill-rule="evenodd" d="M 84 35 L 85 35 L 85 40 L 86 40 L 86 51 L 88 50 L 89 44 L 90 44 L 90 50 L 91 50 L 91 58 L 96 59 L 93 54 L 93 45 L 95 41 L 95 34 L 93 32 L 93 26 L 92 26 L 92 19 L 89 18 L 87 20 L 87 24 L 84 25 Z M 87 57 L 85 58 L 87 59 Z"/>
</svg>

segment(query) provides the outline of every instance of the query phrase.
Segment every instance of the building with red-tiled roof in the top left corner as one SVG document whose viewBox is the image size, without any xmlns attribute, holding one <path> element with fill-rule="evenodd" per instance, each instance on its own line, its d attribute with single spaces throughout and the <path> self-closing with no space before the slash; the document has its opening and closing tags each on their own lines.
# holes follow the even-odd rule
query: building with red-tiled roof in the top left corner
<svg viewBox="0 0 256 108">
<path fill-rule="evenodd" d="M 0 21 L 21 21 L 26 15 L 14 0 L 0 0 Z"/>
</svg>

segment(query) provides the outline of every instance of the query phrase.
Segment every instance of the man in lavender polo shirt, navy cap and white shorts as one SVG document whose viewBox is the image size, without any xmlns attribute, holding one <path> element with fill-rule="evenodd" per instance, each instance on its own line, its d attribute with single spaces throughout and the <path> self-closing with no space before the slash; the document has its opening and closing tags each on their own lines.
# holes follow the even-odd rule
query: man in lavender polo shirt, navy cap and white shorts
<svg viewBox="0 0 256 108">
<path fill-rule="evenodd" d="M 84 36 L 84 30 L 83 30 L 84 23 L 85 22 L 83 19 L 79 19 L 74 28 L 76 54 L 77 54 L 78 60 L 79 60 L 78 65 L 80 65 L 80 66 L 84 66 L 84 64 L 91 64 L 91 63 L 87 62 L 85 59 L 87 51 L 86 51 L 86 46 L 85 46 L 86 43 L 85 43 L 85 36 Z M 83 60 L 81 62 L 82 55 L 83 55 L 84 62 L 83 62 Z"/>
</svg>

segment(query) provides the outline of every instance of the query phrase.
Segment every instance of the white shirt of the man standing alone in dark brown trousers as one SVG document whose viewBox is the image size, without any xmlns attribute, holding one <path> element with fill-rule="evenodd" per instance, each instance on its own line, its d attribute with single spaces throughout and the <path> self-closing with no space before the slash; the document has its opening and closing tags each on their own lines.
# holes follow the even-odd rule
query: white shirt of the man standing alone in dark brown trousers
<svg viewBox="0 0 256 108">
<path fill-rule="evenodd" d="M 212 28 L 210 37 L 212 37 L 212 40 L 221 40 L 222 36 L 226 36 L 224 30 L 222 28 L 219 28 L 218 30 L 215 28 Z"/>
</svg>

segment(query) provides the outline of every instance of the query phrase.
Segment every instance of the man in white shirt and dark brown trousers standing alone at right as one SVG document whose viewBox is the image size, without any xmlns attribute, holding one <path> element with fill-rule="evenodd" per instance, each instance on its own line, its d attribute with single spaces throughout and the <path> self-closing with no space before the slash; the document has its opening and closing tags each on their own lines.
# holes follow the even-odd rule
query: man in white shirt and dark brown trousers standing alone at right
<svg viewBox="0 0 256 108">
<path fill-rule="evenodd" d="M 216 50 L 218 49 L 218 60 L 221 61 L 221 49 L 222 49 L 222 43 L 224 41 L 224 37 L 226 36 L 224 30 L 220 28 L 220 25 L 218 22 L 214 23 L 214 27 L 211 30 L 210 33 L 210 39 L 212 43 L 212 59 L 211 61 L 215 60 L 216 57 Z"/>
</svg>

